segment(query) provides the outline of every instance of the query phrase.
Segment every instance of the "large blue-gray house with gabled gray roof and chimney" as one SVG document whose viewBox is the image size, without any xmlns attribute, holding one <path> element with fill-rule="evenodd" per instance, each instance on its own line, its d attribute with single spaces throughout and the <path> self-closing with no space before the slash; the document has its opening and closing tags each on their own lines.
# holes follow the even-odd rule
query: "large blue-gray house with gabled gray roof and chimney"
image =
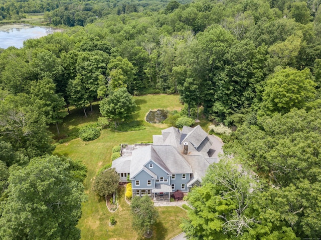
<svg viewBox="0 0 321 240">
<path fill-rule="evenodd" d="M 202 182 L 208 166 L 218 162 L 223 143 L 208 135 L 200 125 L 169 127 L 153 135 L 152 144 L 135 144 L 112 162 L 121 181 L 129 174 L 132 193 L 150 195 L 154 200 L 170 200 L 176 190 L 188 192 Z"/>
</svg>

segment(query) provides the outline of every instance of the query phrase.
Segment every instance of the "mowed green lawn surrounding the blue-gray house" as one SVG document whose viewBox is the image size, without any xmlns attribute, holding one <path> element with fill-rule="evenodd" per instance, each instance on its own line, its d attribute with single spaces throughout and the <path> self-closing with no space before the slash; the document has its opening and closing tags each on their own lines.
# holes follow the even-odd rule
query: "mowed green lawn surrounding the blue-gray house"
<svg viewBox="0 0 321 240">
<path fill-rule="evenodd" d="M 111 148 L 119 143 L 137 143 L 152 141 L 153 134 L 161 134 L 161 130 L 168 127 L 165 124 L 150 124 L 144 121 L 149 109 L 180 109 L 178 95 L 146 95 L 134 97 L 137 104 L 134 113 L 135 120 L 141 120 L 145 129 L 130 132 L 117 132 L 110 129 L 101 131 L 99 138 L 84 142 L 79 138 L 57 145 L 54 154 L 65 155 L 73 160 L 82 161 L 88 168 L 88 176 L 84 181 L 85 192 L 88 200 L 82 206 L 82 217 L 78 227 L 81 229 L 82 239 L 140 239 L 131 227 L 130 206 L 124 200 L 124 189 L 119 195 L 119 209 L 111 213 L 105 201 L 99 199 L 92 191 L 92 183 L 97 171 L 106 163 L 111 162 Z M 73 109 L 72 113 L 60 124 L 62 134 L 95 122 L 99 116 L 98 104 L 94 105 L 94 112 L 84 117 L 82 109 Z M 55 133 L 55 127 L 51 130 Z M 179 225 L 187 213 L 180 207 L 157 207 L 160 215 L 154 234 L 149 239 L 171 239 L 182 230 Z M 116 225 L 109 226 L 109 217 L 115 216 Z"/>
</svg>

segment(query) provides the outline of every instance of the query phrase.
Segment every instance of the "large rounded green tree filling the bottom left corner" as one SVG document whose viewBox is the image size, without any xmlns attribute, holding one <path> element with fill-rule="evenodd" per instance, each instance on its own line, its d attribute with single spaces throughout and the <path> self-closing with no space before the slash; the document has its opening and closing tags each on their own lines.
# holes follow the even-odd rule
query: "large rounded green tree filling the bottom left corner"
<svg viewBox="0 0 321 240">
<path fill-rule="evenodd" d="M 68 163 L 57 156 L 33 158 L 9 176 L 8 198 L 2 201 L 2 239 L 79 239 L 76 228 L 86 199 Z"/>
</svg>

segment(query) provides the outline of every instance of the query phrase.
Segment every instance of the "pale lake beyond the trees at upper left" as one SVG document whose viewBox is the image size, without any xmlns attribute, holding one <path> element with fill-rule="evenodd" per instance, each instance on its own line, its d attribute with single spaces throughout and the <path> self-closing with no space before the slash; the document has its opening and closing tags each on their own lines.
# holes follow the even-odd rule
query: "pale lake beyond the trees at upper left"
<svg viewBox="0 0 321 240">
<path fill-rule="evenodd" d="M 0 47 L 8 48 L 23 46 L 24 40 L 39 38 L 53 33 L 54 29 L 44 26 L 31 26 L 26 24 L 8 24 L 0 26 Z"/>
</svg>

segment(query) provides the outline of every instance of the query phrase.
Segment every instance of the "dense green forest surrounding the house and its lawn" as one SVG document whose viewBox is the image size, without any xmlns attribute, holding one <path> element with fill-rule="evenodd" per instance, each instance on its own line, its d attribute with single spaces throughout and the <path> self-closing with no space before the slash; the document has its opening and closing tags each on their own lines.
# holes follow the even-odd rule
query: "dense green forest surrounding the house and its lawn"
<svg viewBox="0 0 321 240">
<path fill-rule="evenodd" d="M 320 3 L 1 1 L 2 19 L 45 12 L 48 24 L 69 27 L 26 40 L 20 49 L 1 49 L 0 238 L 79 237 L 85 169 L 50 155 L 48 125 L 59 131 L 66 106 L 82 107 L 85 117 L 92 102 L 120 88 L 132 95 L 179 93 L 190 116 L 202 108 L 209 120 L 236 129 L 224 138 L 224 150 L 244 172 L 228 163 L 209 170 L 189 195 L 195 207 L 183 226 L 189 239 L 319 237 Z M 28 204 L 34 194 L 25 194 L 28 187 L 59 190 L 51 189 L 48 175 L 36 180 L 45 168 L 68 179 L 58 184 L 66 196 L 80 196 L 64 205 L 66 214 L 73 212 L 68 229 L 63 214 L 57 213 L 58 223 L 48 221 L 48 232 L 26 227 L 30 216 L 39 223 L 34 206 L 19 215 L 17 197 Z M 34 178 L 25 179 L 27 172 Z M 28 187 L 21 181 L 30 181 Z M 39 198 L 61 213 L 60 200 Z"/>
</svg>

